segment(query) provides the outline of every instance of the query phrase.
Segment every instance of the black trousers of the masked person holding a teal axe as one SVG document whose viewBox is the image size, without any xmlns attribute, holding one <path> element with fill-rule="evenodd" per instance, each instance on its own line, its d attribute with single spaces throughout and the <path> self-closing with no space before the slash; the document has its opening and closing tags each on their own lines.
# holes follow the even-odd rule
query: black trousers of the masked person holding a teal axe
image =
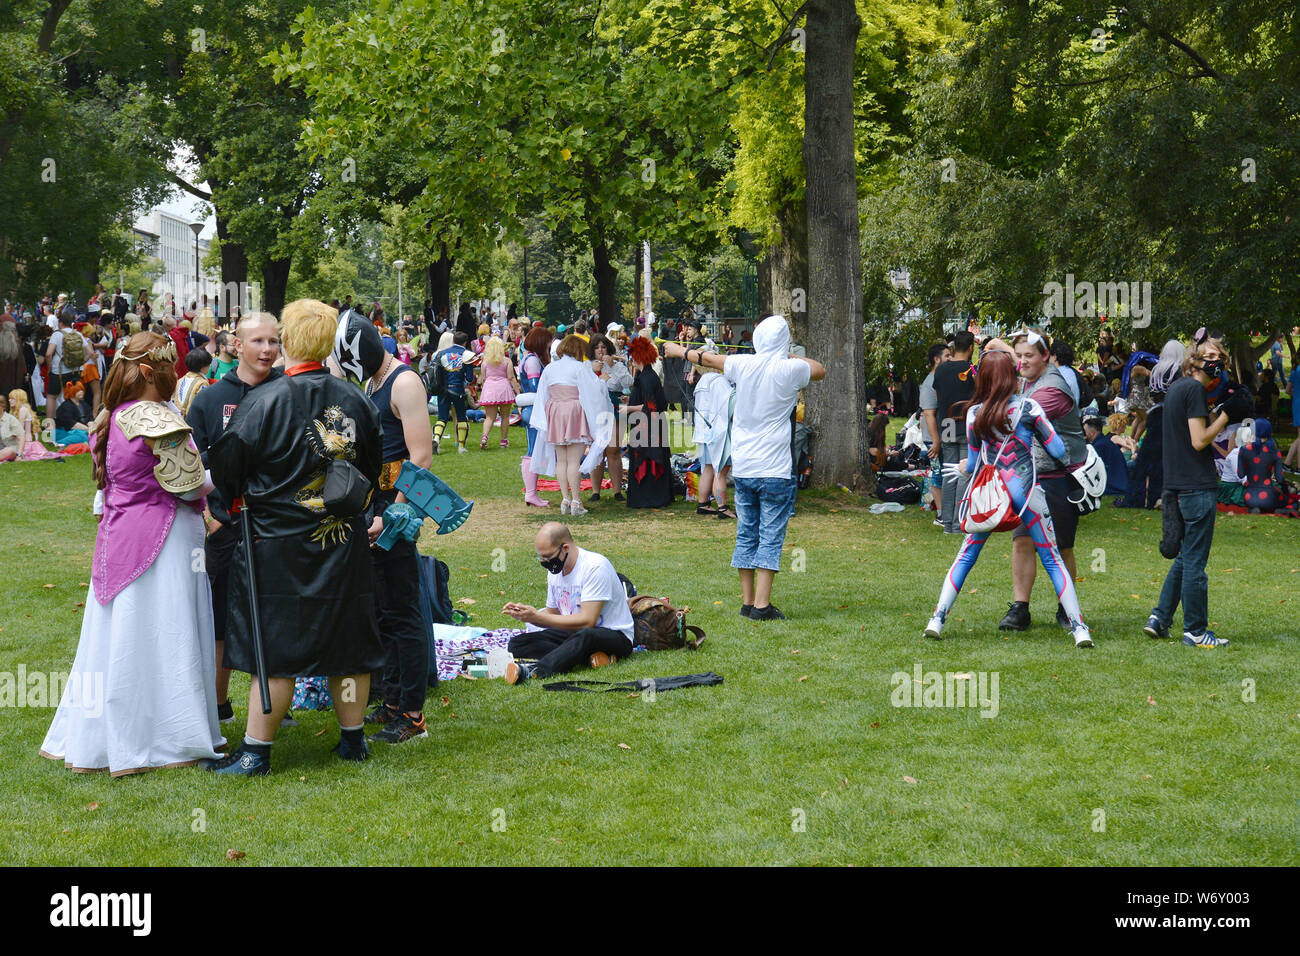
<svg viewBox="0 0 1300 956">
<path fill-rule="evenodd" d="M 370 549 L 374 617 L 384 645 L 384 702 L 410 714 L 424 710 L 429 687 L 429 635 L 420 615 L 420 564 L 415 541 Z"/>
</svg>

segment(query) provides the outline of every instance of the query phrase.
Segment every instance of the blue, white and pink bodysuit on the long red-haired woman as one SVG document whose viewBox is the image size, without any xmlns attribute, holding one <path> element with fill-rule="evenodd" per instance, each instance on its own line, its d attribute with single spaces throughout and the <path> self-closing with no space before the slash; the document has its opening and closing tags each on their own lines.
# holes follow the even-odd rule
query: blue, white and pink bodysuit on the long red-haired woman
<svg viewBox="0 0 1300 956">
<path fill-rule="evenodd" d="M 1075 640 L 1080 643 L 1078 628 L 1086 630 L 1083 613 L 1079 610 L 1079 598 L 1074 589 L 1074 581 L 1070 580 L 1070 574 L 1061 559 L 1061 551 L 1057 549 L 1046 498 L 1043 494 L 1043 489 L 1035 481 L 1032 455 L 1035 434 L 1043 442 L 1046 453 L 1057 460 L 1069 458 L 1065 442 L 1056 433 L 1056 429 L 1039 403 L 1032 398 L 1020 395 L 1013 395 L 1008 405 L 1008 418 L 1010 421 L 1015 421 L 1015 432 L 1010 441 L 1005 446 L 1002 445 L 1005 434 L 993 442 L 980 441 L 975 436 L 974 428 L 975 415 L 980 407 L 980 405 L 971 406 L 966 412 L 966 434 L 968 437 L 966 471 L 974 475 L 976 464 L 982 460 L 997 466 L 998 473 L 1002 476 L 1002 481 L 1006 483 L 1008 492 L 1010 492 L 1011 507 L 1020 515 L 1020 522 L 1024 527 L 1030 529 L 1030 536 L 1034 540 L 1035 548 L 1037 548 L 1039 559 L 1052 579 L 1057 600 L 1061 601 L 1061 606 L 1070 615 L 1070 627 L 1076 633 Z M 998 449 L 1001 449 L 1000 455 Z M 997 455 L 996 462 L 992 460 L 993 455 Z M 931 627 L 926 630 L 927 636 L 940 636 L 942 622 L 948 617 L 948 611 L 952 610 L 953 602 L 957 600 L 957 594 L 966 581 L 966 575 L 975 567 L 975 559 L 979 558 L 980 549 L 991 533 L 984 531 L 966 536 L 961 550 L 957 553 L 957 559 L 953 561 L 953 566 L 948 570 L 944 589 L 939 596 L 939 606 L 935 609 Z M 1088 646 L 1091 646 L 1091 641 L 1088 641 Z"/>
</svg>

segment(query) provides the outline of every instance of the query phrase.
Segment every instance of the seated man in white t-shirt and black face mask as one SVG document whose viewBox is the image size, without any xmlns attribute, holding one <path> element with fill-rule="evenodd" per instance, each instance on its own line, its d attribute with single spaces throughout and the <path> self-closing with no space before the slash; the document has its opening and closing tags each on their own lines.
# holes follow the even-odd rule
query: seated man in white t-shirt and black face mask
<svg viewBox="0 0 1300 956">
<path fill-rule="evenodd" d="M 569 529 L 547 522 L 533 542 L 546 568 L 546 607 L 507 604 L 502 614 L 529 624 L 510 641 L 510 653 L 538 658 L 511 661 L 506 680 L 549 678 L 584 663 L 602 667 L 632 653 L 632 610 L 614 564 L 603 554 L 585 551 Z"/>
</svg>

